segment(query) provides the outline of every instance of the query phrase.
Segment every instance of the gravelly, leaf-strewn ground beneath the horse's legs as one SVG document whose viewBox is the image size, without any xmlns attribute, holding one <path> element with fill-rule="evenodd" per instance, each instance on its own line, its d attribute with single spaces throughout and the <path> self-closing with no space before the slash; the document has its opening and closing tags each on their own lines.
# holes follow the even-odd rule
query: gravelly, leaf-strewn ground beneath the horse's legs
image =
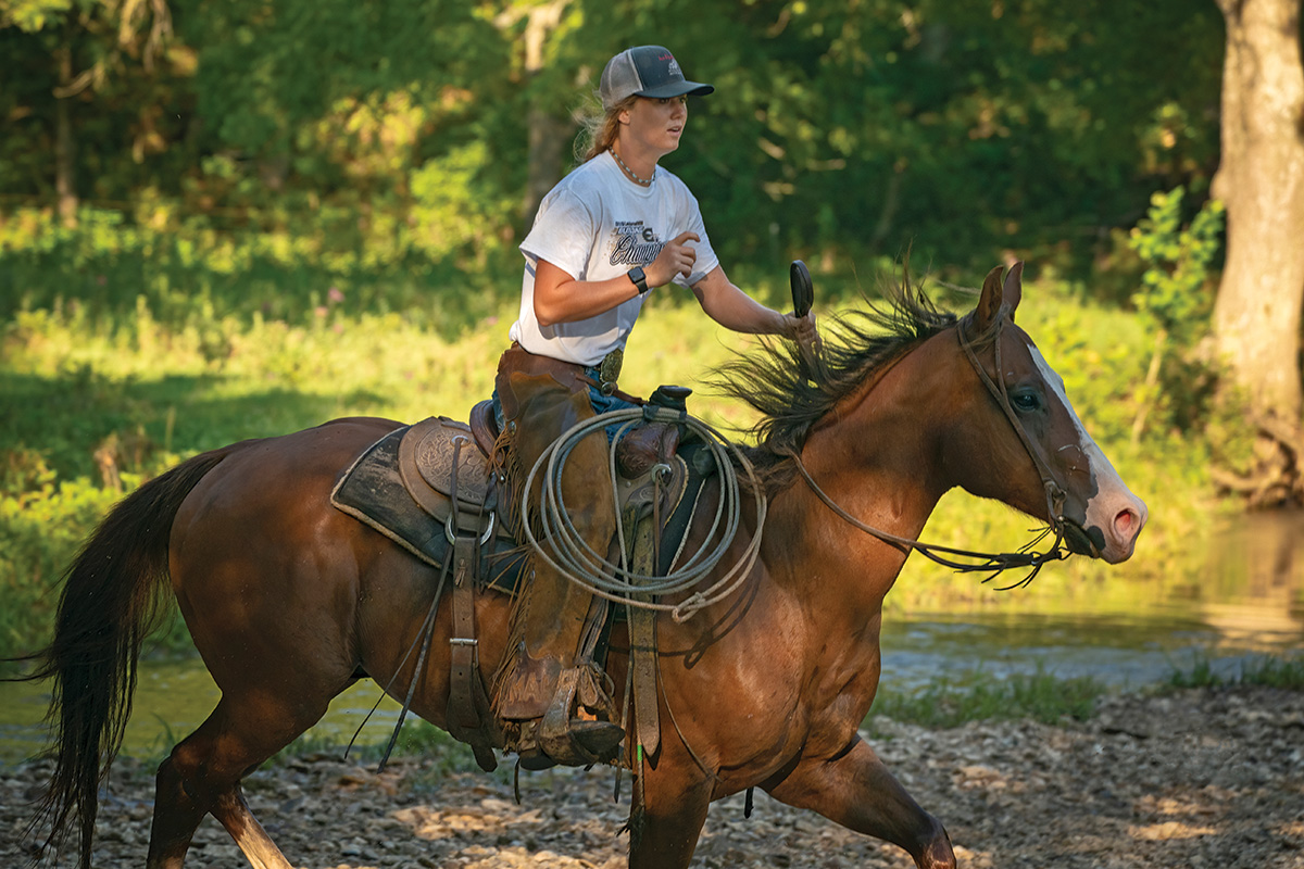
<svg viewBox="0 0 1304 869">
<path fill-rule="evenodd" d="M 1184 691 L 1102 701 L 1088 722 L 970 723 L 926 730 L 875 719 L 872 744 L 940 817 L 961 866 L 1274 866 L 1304 869 L 1304 693 Z M 446 766 L 446 762 L 442 765 Z M 46 767 L 0 766 L 0 866 L 22 865 L 25 804 Z M 550 869 L 625 865 L 629 779 L 609 770 L 449 774 L 433 761 L 386 773 L 326 757 L 246 780 L 249 803 L 295 866 Z M 96 869 L 141 866 L 153 778 L 115 766 L 100 803 Z M 60 865 L 69 865 L 65 857 Z M 189 869 L 246 865 L 207 818 Z M 909 868 L 898 848 L 763 793 L 712 806 L 694 866 Z"/>
</svg>

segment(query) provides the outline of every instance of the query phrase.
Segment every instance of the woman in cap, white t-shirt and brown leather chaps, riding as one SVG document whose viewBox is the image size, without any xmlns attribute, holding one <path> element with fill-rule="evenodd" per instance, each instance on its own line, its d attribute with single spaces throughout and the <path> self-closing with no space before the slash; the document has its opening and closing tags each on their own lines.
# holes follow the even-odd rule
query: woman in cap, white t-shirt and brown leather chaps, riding
<svg viewBox="0 0 1304 869">
<path fill-rule="evenodd" d="M 818 340 L 812 315 L 780 314 L 729 280 L 696 199 L 657 165 L 679 147 L 687 98 L 713 90 L 687 81 L 660 46 L 627 48 L 602 70 L 605 113 L 583 163 L 544 197 L 520 245 L 520 315 L 494 391 L 506 463 L 518 476 L 575 423 L 635 406 L 615 391 L 619 358 L 643 304 L 659 287 L 691 288 L 707 315 L 733 331 L 782 335 L 806 345 Z M 602 434 L 589 435 L 570 453 L 561 481 L 566 503 L 576 507 L 571 521 L 597 552 L 608 551 L 615 532 L 606 455 Z M 623 739 L 612 722 L 578 718 L 575 691 L 558 689 L 578 680 L 601 687 L 592 664 L 575 659 L 591 599 L 588 590 L 540 559 L 522 594 L 516 641 L 496 680 L 494 710 L 523 723 L 522 749 L 544 750 L 561 763 L 589 763 Z M 563 707 L 546 715 L 554 706 Z M 552 732 L 554 722 L 569 722 L 565 732 Z"/>
</svg>

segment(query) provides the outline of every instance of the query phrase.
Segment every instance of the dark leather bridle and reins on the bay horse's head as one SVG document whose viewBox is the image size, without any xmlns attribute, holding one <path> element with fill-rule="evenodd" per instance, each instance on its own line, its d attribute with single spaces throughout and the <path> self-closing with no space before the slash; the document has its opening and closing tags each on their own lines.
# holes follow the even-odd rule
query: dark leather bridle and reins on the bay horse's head
<svg viewBox="0 0 1304 869">
<path fill-rule="evenodd" d="M 998 575 L 1011 571 L 1029 568 L 1029 573 L 1021 580 L 1012 585 L 1001 586 L 1001 590 L 1016 589 L 1025 586 L 1033 581 L 1033 578 L 1041 572 L 1041 569 L 1050 562 L 1059 562 L 1068 558 L 1068 552 L 1063 548 L 1064 542 L 1064 502 L 1068 494 L 1064 489 L 1055 482 L 1051 476 L 1050 468 L 1046 461 L 1037 453 L 1033 447 L 1033 442 L 1028 436 L 1028 431 L 1024 425 L 1018 421 L 1018 416 L 1015 413 L 1013 405 L 1009 403 L 1009 393 L 1005 390 L 1004 379 L 1000 377 L 1000 332 L 1004 328 L 1005 315 L 1001 314 L 1000 319 L 995 327 L 995 335 L 992 337 L 992 347 L 995 352 L 996 361 L 996 379 L 992 380 L 987 370 L 983 369 L 982 362 L 978 361 L 978 354 L 974 353 L 973 343 L 965 332 L 965 321 L 961 319 L 956 323 L 956 335 L 960 340 L 960 348 L 965 353 L 965 358 L 973 366 L 974 373 L 977 373 L 978 379 L 982 380 L 983 386 L 991 393 L 992 399 L 996 401 L 998 406 L 1005 413 L 1005 418 L 1009 420 L 1011 427 L 1013 427 L 1015 434 L 1018 435 L 1020 443 L 1024 444 L 1024 449 L 1028 456 L 1033 460 L 1033 466 L 1042 478 L 1042 489 L 1046 491 L 1046 509 L 1047 516 L 1051 517 L 1050 528 L 1039 533 L 1035 538 L 1029 541 L 1028 545 L 1021 547 L 1017 552 L 977 552 L 973 550 L 953 548 L 949 546 L 939 546 L 936 543 L 925 543 L 909 537 L 901 537 L 897 534 L 891 534 L 872 525 L 867 525 L 852 516 L 846 509 L 844 509 L 837 502 L 829 498 L 828 492 L 819 487 L 819 483 L 811 477 L 806 465 L 802 464 L 801 456 L 794 449 L 788 453 L 801 473 L 806 485 L 810 487 L 815 495 L 824 502 L 824 506 L 833 511 L 840 519 L 850 524 L 852 526 L 879 538 L 884 543 L 889 543 L 901 548 L 902 551 L 914 550 L 923 555 L 925 558 L 941 564 L 943 567 L 951 568 L 960 573 L 991 573 L 983 582 L 988 582 Z M 1046 552 L 1033 551 L 1042 539 L 1048 534 L 1055 534 L 1055 542 Z M 953 558 L 948 558 L 953 556 Z M 971 559 L 969 562 L 956 560 L 956 559 Z"/>
</svg>

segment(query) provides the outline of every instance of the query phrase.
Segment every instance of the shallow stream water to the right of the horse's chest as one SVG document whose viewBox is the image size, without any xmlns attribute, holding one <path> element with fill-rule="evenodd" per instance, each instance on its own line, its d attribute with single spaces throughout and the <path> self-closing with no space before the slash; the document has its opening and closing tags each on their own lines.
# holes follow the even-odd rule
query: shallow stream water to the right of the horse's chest
<svg viewBox="0 0 1304 869">
<path fill-rule="evenodd" d="M 1228 520 L 1192 548 L 1202 550 L 1200 567 L 1131 612 L 885 620 L 884 683 L 910 691 L 939 675 L 964 681 L 1043 670 L 1134 688 L 1196 662 L 1234 677 L 1257 655 L 1304 649 L 1304 512 Z"/>
</svg>

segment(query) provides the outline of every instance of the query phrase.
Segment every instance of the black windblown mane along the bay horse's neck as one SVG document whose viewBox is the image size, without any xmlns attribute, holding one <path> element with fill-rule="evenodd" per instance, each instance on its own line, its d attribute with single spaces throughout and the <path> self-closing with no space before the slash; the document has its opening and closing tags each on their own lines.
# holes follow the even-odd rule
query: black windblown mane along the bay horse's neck
<svg viewBox="0 0 1304 869">
<path fill-rule="evenodd" d="M 745 452 L 765 489 L 786 487 L 790 460 L 815 423 L 867 379 L 902 354 L 955 326 L 958 318 L 938 309 L 922 281 L 882 280 L 880 301 L 861 296 L 862 307 L 825 318 L 823 367 L 812 366 L 793 341 L 762 339 L 759 347 L 717 367 L 711 386 L 746 401 L 762 418 L 751 427 L 755 446 Z M 988 336 L 971 336 L 975 344 Z"/>
</svg>

